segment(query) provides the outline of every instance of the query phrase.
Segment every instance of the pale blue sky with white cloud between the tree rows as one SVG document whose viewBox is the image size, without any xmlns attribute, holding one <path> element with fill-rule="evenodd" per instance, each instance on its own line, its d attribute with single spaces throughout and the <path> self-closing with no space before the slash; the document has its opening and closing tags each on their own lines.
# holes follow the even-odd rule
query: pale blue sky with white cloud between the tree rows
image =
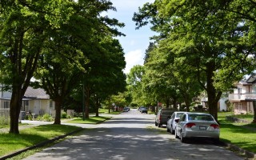
<svg viewBox="0 0 256 160">
<path fill-rule="evenodd" d="M 145 51 L 150 45 L 150 37 L 154 32 L 150 30 L 150 26 L 142 26 L 139 30 L 135 30 L 135 22 L 132 21 L 134 12 L 138 12 L 138 7 L 142 7 L 146 2 L 154 2 L 154 0 L 110 0 L 117 11 L 109 11 L 107 15 L 110 18 L 116 18 L 119 22 L 125 23 L 125 27 L 118 28 L 126 37 L 118 37 L 119 42 L 125 53 L 126 69 L 125 74 L 135 65 L 143 65 Z"/>
</svg>

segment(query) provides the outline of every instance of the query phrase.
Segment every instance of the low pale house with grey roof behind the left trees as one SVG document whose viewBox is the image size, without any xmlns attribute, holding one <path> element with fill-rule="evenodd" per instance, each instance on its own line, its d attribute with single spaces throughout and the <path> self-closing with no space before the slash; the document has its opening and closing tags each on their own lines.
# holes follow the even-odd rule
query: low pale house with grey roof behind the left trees
<svg viewBox="0 0 256 160">
<path fill-rule="evenodd" d="M 2 114 L 9 115 L 10 112 L 10 98 L 11 93 L 8 91 L 0 92 L 0 116 Z M 35 115 L 52 114 L 55 110 L 55 103 L 50 99 L 50 96 L 46 94 L 45 90 L 34 89 L 28 87 L 24 97 L 22 98 L 21 112 L 31 112 Z M 1 114 L 2 113 L 2 114 Z"/>
</svg>

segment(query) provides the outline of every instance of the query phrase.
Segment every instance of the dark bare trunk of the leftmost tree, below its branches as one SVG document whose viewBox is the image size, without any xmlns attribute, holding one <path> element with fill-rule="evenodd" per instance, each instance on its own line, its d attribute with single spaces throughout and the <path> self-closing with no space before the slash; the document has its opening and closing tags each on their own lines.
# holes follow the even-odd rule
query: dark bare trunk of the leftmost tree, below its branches
<svg viewBox="0 0 256 160">
<path fill-rule="evenodd" d="M 10 99 L 10 134 L 19 134 L 18 118 L 22 106 L 22 90 L 14 86 Z"/>
</svg>

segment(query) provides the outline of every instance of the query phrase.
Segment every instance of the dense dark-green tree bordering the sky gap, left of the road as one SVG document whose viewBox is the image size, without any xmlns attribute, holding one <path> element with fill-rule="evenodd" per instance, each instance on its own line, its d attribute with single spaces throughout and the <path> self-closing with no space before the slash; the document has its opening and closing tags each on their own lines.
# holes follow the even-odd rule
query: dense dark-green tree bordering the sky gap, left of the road
<svg viewBox="0 0 256 160">
<path fill-rule="evenodd" d="M 87 70 L 90 69 L 85 74 L 84 81 L 86 86 L 86 118 L 89 118 L 91 95 L 94 95 L 98 107 L 99 102 L 126 90 L 126 75 L 122 71 L 126 62 L 122 46 L 117 39 L 109 36 L 101 38 L 99 45 L 96 52 L 88 54 L 90 62 L 85 66 Z"/>
</svg>

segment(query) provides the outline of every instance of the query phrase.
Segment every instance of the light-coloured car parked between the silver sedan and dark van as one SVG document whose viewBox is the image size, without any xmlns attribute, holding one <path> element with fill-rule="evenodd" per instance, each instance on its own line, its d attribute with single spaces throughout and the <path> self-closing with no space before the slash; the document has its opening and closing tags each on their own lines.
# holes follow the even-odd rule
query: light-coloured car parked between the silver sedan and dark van
<svg viewBox="0 0 256 160">
<path fill-rule="evenodd" d="M 185 114 L 186 112 L 177 111 L 174 112 L 170 118 L 167 120 L 166 124 L 166 130 L 167 132 L 170 132 L 171 134 L 175 133 L 176 124 L 178 123 L 179 118 L 181 118 L 182 114 Z"/>
</svg>

